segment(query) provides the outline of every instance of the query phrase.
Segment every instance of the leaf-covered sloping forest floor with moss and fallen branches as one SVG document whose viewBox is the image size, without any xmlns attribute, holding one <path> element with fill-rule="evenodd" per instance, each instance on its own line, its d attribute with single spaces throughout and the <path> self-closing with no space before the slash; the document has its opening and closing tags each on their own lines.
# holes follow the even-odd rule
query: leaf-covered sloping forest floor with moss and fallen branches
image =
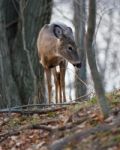
<svg viewBox="0 0 120 150">
<path fill-rule="evenodd" d="M 106 119 L 95 97 L 42 111 L 0 112 L 0 150 L 120 150 L 120 90 L 107 96 L 112 113 Z"/>
</svg>

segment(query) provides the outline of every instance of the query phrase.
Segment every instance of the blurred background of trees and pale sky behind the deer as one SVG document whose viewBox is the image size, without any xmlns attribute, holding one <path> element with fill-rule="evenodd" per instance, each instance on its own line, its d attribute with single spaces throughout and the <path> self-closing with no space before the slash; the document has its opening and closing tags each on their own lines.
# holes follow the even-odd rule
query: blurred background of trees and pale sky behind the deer
<svg viewBox="0 0 120 150">
<path fill-rule="evenodd" d="M 82 60 L 80 70 L 75 71 L 68 65 L 67 99 L 76 99 L 89 93 L 89 89 L 94 87 L 84 47 L 88 1 L 21 2 L 0 1 L 0 107 L 46 101 L 44 72 L 38 60 L 36 38 L 41 27 L 49 22 L 64 22 L 72 27 Z M 97 0 L 94 55 L 107 92 L 120 87 L 119 26 L 120 1 L 109 0 L 108 3 L 107 0 Z M 78 78 L 87 83 L 87 87 Z"/>
</svg>

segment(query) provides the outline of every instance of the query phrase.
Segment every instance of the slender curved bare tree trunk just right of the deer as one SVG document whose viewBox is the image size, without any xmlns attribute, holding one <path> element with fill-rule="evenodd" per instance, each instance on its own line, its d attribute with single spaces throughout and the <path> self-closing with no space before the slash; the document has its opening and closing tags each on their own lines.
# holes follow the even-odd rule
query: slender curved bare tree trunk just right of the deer
<svg viewBox="0 0 120 150">
<path fill-rule="evenodd" d="M 88 17 L 87 36 L 86 36 L 86 51 L 87 51 L 88 63 L 90 66 L 92 78 L 94 81 L 94 87 L 95 87 L 96 94 L 98 96 L 101 111 L 104 117 L 107 117 L 109 115 L 110 108 L 108 105 L 107 98 L 105 97 L 105 91 L 96 66 L 96 60 L 94 55 L 93 37 L 95 33 L 95 24 L 96 24 L 96 1 L 89 0 L 89 17 Z"/>
</svg>

